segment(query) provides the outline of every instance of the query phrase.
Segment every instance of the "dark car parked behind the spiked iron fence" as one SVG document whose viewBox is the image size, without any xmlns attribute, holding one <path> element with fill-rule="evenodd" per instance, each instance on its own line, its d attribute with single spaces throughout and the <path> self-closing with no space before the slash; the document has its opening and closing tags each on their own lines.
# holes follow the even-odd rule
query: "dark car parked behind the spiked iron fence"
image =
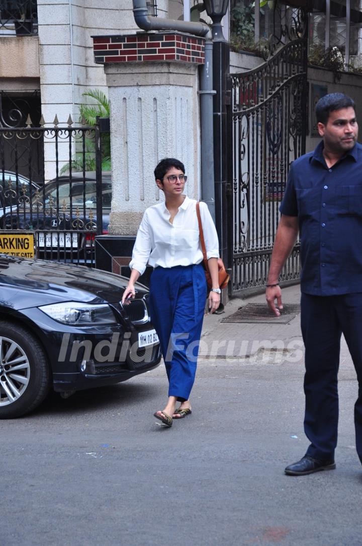
<svg viewBox="0 0 362 546">
<path fill-rule="evenodd" d="M 13 207 L 6 216 L 6 229 L 35 232 L 37 257 L 94 265 L 94 238 L 108 233 L 111 173 L 102 173 L 102 217 L 96 211 L 95 172 L 58 176 L 32 194 L 25 206 Z"/>
</svg>

